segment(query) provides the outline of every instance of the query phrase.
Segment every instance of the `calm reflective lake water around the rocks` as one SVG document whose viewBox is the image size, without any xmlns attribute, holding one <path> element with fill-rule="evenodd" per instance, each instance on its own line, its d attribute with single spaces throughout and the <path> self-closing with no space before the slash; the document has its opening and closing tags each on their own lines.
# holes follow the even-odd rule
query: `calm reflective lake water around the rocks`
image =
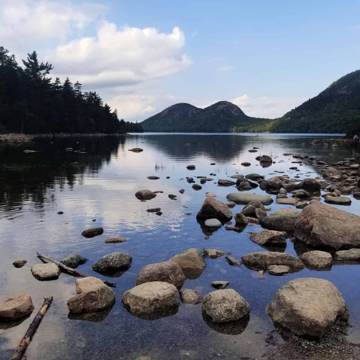
<svg viewBox="0 0 360 360">
<path fill-rule="evenodd" d="M 0 359 L 12 356 L 43 298 L 50 295 L 54 296 L 53 305 L 28 347 L 28 360 L 80 357 L 132 360 L 139 355 L 150 355 L 152 360 L 196 358 L 182 357 L 183 350 L 192 351 L 192 356 L 197 352 L 197 359 L 258 358 L 269 349 L 266 334 L 273 330 L 265 314 L 267 303 L 284 283 L 308 276 L 330 280 L 342 292 L 354 325 L 349 339 L 360 342 L 358 265 L 333 266 L 330 271 L 305 269 L 282 277 L 265 274 L 265 278 L 261 278 L 243 266 L 230 266 L 224 257 L 207 259 L 203 274 L 186 280 L 184 288 L 206 295 L 214 290 L 210 285 L 212 281 L 230 281 L 229 288 L 238 291 L 251 306 L 246 329 L 235 335 L 213 329 L 202 318 L 201 305 L 181 303 L 175 314 L 150 321 L 133 316 L 121 303 L 123 292 L 135 285 L 141 267 L 165 261 L 188 248 L 220 249 L 237 258 L 249 252 L 264 251 L 249 240 L 247 233 L 260 231 L 258 225 L 248 226 L 242 233 L 224 228 L 213 233 L 202 229 L 195 216 L 205 192 L 216 193 L 217 199 L 226 202 L 226 195 L 236 192 L 236 188 L 219 187 L 214 182 L 236 172 L 244 175 L 257 172 L 267 178 L 273 176 L 270 173 L 274 170 L 301 177 L 319 174 L 311 164 L 299 166 L 300 172 L 289 170 L 292 157 L 283 156 L 285 152 L 309 153 L 326 162 L 355 155 L 354 149 L 349 147 L 302 146 L 311 139 L 325 137 L 334 136 L 141 134 L 126 138 L 43 139 L 31 146 L 0 147 L 2 168 L 6 168 L 0 170 L 0 299 L 26 292 L 35 306 L 31 317 L 17 327 L 0 328 Z M 249 153 L 247 150 L 254 146 L 260 148 L 259 152 Z M 66 152 L 67 147 L 86 149 L 86 154 Z M 144 151 L 127 151 L 134 147 Z M 24 154 L 24 149 L 40 153 Z M 262 168 L 255 160 L 259 154 L 271 154 L 276 163 Z M 285 162 L 279 163 L 280 160 Z M 244 161 L 252 165 L 241 166 Z M 216 165 L 210 165 L 212 162 Z M 160 167 L 158 171 L 156 164 Z M 196 170 L 186 170 L 189 164 L 196 165 Z M 194 191 L 192 184 L 185 180 L 186 176 L 208 176 L 211 172 L 217 174 L 214 182 L 206 183 L 200 191 Z M 149 175 L 158 175 L 160 179 L 148 180 Z M 178 193 L 181 188 L 185 189 L 183 195 Z M 134 196 L 139 189 L 163 190 L 164 193 L 141 202 Z M 263 193 L 259 188 L 251 192 Z M 177 201 L 168 198 L 171 193 L 178 195 Z M 161 207 L 163 215 L 147 213 L 148 206 Z M 271 204 L 272 211 L 280 207 Z M 360 215 L 359 201 L 354 198 L 350 207 L 342 208 Z M 241 209 L 238 205 L 232 211 Z M 58 215 L 58 211 L 64 214 Z M 186 211 L 193 215 L 185 216 Z M 92 219 L 97 221 L 94 223 Z M 82 230 L 92 226 L 102 226 L 104 234 L 92 239 L 82 237 Z M 128 240 L 122 244 L 104 243 L 106 238 L 115 235 Z M 75 278 L 67 274 L 50 282 L 33 278 L 30 267 L 39 263 L 37 251 L 58 260 L 70 252 L 80 253 L 89 261 L 78 270 L 103 279 L 104 276 L 90 268 L 103 255 L 128 252 L 133 261 L 122 276 L 110 280 L 117 283 L 114 289 L 117 300 L 111 309 L 96 319 L 74 318 L 68 315 L 66 303 L 76 293 Z M 289 240 L 286 252 L 296 255 L 294 244 Z M 16 259 L 26 259 L 28 264 L 15 269 L 12 262 Z"/>
</svg>

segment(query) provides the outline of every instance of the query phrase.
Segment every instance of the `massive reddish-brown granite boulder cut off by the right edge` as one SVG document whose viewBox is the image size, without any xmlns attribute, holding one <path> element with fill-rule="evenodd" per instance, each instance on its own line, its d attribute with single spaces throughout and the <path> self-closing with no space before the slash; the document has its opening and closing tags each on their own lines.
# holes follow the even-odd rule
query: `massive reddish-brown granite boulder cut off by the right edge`
<svg viewBox="0 0 360 360">
<path fill-rule="evenodd" d="M 360 216 L 325 204 L 309 204 L 294 224 L 295 237 L 314 247 L 360 247 Z"/>
</svg>

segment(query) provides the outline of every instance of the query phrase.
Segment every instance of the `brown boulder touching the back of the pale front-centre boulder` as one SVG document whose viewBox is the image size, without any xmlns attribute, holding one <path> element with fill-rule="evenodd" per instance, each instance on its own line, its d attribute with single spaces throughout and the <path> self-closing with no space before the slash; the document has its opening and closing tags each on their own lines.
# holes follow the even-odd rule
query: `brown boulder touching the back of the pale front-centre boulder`
<svg viewBox="0 0 360 360">
<path fill-rule="evenodd" d="M 185 283 L 186 278 L 176 262 L 165 261 L 144 266 L 136 278 L 136 285 L 152 281 L 161 281 L 178 287 Z"/>
</svg>

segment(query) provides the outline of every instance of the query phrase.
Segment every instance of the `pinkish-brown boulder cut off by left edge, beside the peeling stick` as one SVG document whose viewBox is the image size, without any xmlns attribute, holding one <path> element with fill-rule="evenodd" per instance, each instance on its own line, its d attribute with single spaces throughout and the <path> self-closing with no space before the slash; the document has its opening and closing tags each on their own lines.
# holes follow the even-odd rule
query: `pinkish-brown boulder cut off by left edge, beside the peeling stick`
<svg viewBox="0 0 360 360">
<path fill-rule="evenodd" d="M 28 294 L 16 295 L 0 302 L 0 321 L 10 322 L 31 314 L 34 310 Z"/>
</svg>

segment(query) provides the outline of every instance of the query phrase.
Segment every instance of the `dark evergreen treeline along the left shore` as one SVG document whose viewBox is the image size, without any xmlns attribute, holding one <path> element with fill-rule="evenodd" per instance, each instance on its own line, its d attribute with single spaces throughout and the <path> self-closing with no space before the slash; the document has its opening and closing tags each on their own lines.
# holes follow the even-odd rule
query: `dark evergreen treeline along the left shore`
<svg viewBox="0 0 360 360">
<path fill-rule="evenodd" d="M 0 46 L 0 134 L 143 132 L 140 124 L 119 121 L 95 91 L 82 92 L 78 81 L 53 81 L 52 64 L 40 63 L 35 51 L 27 55 L 21 67 Z"/>
</svg>

